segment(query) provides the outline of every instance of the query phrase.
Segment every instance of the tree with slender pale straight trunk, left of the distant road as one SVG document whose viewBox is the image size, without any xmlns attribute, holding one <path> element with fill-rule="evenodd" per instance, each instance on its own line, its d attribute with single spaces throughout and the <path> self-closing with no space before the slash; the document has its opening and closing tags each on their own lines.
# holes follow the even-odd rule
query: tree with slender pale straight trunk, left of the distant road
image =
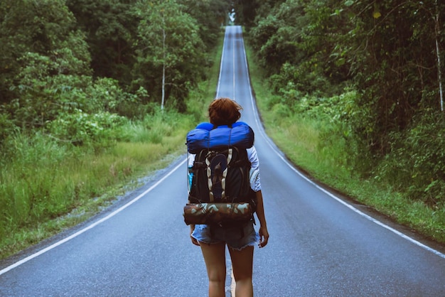
<svg viewBox="0 0 445 297">
<path fill-rule="evenodd" d="M 185 108 L 183 99 L 189 88 L 204 75 L 205 46 L 195 19 L 174 0 L 141 0 L 136 16 L 141 18 L 136 84 L 146 90 L 160 90 L 161 109 L 169 96 L 175 97 L 180 110 Z"/>
</svg>

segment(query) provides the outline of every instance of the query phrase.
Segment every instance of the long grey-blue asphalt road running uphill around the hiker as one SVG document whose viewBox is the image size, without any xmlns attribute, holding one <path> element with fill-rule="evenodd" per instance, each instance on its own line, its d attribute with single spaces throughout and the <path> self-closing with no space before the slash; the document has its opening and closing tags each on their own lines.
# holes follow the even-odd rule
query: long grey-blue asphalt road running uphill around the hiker
<svg viewBox="0 0 445 297">
<path fill-rule="evenodd" d="M 255 131 L 271 235 L 255 249 L 255 296 L 445 296 L 445 254 L 299 173 L 264 134 L 241 28 L 227 27 L 217 97 Z M 88 222 L 0 262 L 0 296 L 206 296 L 183 224 L 185 157 Z M 440 252 L 442 251 L 442 252 Z M 230 296 L 230 260 L 227 260 Z"/>
</svg>

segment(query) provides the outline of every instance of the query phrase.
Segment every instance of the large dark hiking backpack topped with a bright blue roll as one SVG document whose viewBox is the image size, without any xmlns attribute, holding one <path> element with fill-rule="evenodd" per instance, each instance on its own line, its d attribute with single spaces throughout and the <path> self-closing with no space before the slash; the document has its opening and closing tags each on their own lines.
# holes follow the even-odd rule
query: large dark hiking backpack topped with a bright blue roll
<svg viewBox="0 0 445 297">
<path fill-rule="evenodd" d="M 219 202 L 237 207 L 238 203 L 248 202 L 254 211 L 247 156 L 247 148 L 253 143 L 254 132 L 243 122 L 217 127 L 199 124 L 188 132 L 188 153 L 195 154 L 193 166 L 189 164 L 188 168 L 188 200 L 206 207 Z"/>
</svg>

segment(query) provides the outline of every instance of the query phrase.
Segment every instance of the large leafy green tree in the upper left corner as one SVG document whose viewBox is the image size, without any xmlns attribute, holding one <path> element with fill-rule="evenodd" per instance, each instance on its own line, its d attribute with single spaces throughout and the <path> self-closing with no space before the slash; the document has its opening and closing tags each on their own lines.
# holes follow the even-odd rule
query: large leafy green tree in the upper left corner
<svg viewBox="0 0 445 297">
<path fill-rule="evenodd" d="M 2 101 L 19 126 L 41 126 L 73 104 L 60 96 L 85 82 L 73 76 L 90 74 L 85 36 L 62 0 L 6 1 L 2 10 Z"/>
</svg>

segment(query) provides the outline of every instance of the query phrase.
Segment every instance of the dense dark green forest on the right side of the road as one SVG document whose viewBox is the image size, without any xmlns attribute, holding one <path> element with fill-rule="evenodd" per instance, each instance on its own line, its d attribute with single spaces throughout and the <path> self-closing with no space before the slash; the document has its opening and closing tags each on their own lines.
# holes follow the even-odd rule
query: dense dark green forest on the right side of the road
<svg viewBox="0 0 445 297">
<path fill-rule="evenodd" d="M 237 1 L 271 108 L 332 126 L 345 166 L 444 212 L 444 1 Z M 318 114 L 319 116 L 319 114 Z"/>
</svg>

